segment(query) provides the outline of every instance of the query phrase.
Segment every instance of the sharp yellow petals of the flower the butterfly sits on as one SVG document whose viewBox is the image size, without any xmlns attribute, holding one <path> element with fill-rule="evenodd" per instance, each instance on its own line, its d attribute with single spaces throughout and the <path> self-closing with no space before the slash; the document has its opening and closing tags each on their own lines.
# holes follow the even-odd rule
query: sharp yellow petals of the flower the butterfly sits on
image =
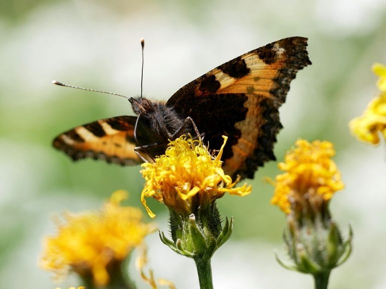
<svg viewBox="0 0 386 289">
<path fill-rule="evenodd" d="M 199 140 L 182 135 L 170 141 L 165 154 L 155 162 L 142 164 L 146 184 L 141 201 L 151 217 L 155 214 L 146 205 L 145 197 L 152 196 L 167 207 L 189 215 L 192 206 L 210 204 L 225 192 L 237 195 L 251 192 L 247 184 L 234 187 L 238 179 L 232 182 L 221 168 L 220 159 L 227 140 L 223 137 L 224 144 L 216 157 Z"/>
</svg>

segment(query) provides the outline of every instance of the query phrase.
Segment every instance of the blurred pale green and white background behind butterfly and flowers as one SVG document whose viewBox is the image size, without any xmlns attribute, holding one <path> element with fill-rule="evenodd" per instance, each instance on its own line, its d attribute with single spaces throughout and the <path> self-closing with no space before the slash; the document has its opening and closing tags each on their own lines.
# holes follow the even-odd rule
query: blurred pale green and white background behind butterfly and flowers
<svg viewBox="0 0 386 289">
<path fill-rule="evenodd" d="M 386 152 L 349 133 L 347 122 L 377 94 L 370 67 L 386 63 L 384 0 L 4 0 L 0 2 L 0 287 L 65 288 L 38 268 L 51 216 L 100 207 L 116 189 L 140 206 L 139 167 L 77 163 L 54 150 L 59 133 L 100 118 L 132 114 L 121 97 L 51 84 L 56 79 L 129 96 L 140 93 L 144 37 L 144 95 L 167 99 L 179 87 L 246 51 L 288 36 L 309 38 L 312 66 L 297 74 L 281 107 L 278 160 L 299 138 L 335 144 L 346 188 L 332 211 L 342 231 L 354 229 L 354 251 L 334 270 L 330 288 L 386 288 Z M 216 288 L 311 288 L 312 278 L 281 268 L 284 214 L 269 204 L 262 181 L 277 162 L 260 168 L 253 193 L 225 195 L 234 234 L 213 258 Z M 153 200 L 155 221 L 166 210 Z M 147 239 L 156 276 L 179 289 L 198 287 L 192 260 Z M 134 270 L 132 265 L 132 270 Z M 133 275 L 138 275 L 133 273 Z M 138 279 L 138 277 L 135 277 Z M 144 283 L 139 288 L 146 288 Z"/>
</svg>

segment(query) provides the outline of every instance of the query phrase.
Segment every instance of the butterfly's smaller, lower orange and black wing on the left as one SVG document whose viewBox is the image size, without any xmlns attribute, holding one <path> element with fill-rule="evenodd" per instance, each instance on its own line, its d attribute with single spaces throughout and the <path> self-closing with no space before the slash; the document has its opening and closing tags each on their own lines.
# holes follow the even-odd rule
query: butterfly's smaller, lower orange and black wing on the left
<svg viewBox="0 0 386 289">
<path fill-rule="evenodd" d="M 92 157 L 121 165 L 138 164 L 142 161 L 134 152 L 136 119 L 122 115 L 80 125 L 58 135 L 53 145 L 73 160 Z"/>
</svg>

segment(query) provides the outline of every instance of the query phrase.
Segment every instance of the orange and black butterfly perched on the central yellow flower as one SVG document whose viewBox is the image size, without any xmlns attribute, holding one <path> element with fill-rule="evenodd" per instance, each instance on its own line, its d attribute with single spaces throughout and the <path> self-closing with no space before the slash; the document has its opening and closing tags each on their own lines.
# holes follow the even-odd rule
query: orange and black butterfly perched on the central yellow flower
<svg viewBox="0 0 386 289">
<path fill-rule="evenodd" d="M 53 145 L 73 160 L 134 165 L 163 154 L 169 139 L 195 135 L 197 127 L 211 149 L 219 149 L 222 135 L 228 136 L 222 157 L 227 174 L 253 178 L 259 166 L 276 159 L 273 146 L 282 128 L 278 108 L 297 71 L 311 64 L 306 48 L 304 37 L 269 43 L 187 83 L 166 102 L 130 97 L 136 116 L 77 126 L 58 135 Z"/>
</svg>

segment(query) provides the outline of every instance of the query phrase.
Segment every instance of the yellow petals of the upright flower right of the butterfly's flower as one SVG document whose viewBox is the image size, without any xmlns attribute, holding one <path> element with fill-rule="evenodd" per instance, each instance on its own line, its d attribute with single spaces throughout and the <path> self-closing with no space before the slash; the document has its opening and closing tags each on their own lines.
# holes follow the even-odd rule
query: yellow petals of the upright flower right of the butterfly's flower
<svg viewBox="0 0 386 289">
<path fill-rule="evenodd" d="M 272 204 L 287 214 L 309 205 L 318 208 L 344 187 L 340 172 L 331 160 L 335 154 L 331 142 L 315 140 L 309 143 L 299 139 L 295 145 L 286 153 L 284 162 L 279 163 L 285 173 L 276 176 L 271 199 Z"/>
</svg>

